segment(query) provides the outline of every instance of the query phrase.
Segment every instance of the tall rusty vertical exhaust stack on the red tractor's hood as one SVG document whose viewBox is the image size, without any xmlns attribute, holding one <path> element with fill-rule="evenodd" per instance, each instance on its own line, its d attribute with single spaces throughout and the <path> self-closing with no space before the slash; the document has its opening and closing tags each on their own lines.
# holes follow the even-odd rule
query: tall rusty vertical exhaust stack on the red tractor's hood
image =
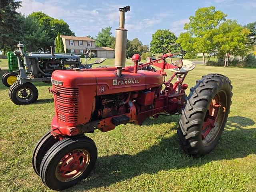
<svg viewBox="0 0 256 192">
<path fill-rule="evenodd" d="M 130 11 L 130 6 L 119 8 L 119 28 L 116 29 L 115 67 L 117 75 L 122 76 L 122 68 L 125 67 L 127 30 L 124 28 L 125 13 Z"/>
</svg>

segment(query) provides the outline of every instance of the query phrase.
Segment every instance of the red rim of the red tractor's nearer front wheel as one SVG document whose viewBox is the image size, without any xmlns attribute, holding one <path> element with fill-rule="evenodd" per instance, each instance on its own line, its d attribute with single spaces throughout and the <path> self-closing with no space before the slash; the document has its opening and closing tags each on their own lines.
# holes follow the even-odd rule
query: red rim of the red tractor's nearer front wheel
<svg viewBox="0 0 256 192">
<path fill-rule="evenodd" d="M 56 178 L 62 182 L 72 181 L 83 174 L 90 162 L 87 150 L 78 149 L 66 154 L 58 163 Z"/>
</svg>

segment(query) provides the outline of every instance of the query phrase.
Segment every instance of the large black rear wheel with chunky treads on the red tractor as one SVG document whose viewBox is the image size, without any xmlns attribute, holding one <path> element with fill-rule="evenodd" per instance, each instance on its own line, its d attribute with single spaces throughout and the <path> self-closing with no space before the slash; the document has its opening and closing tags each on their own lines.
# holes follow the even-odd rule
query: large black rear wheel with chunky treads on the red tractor
<svg viewBox="0 0 256 192">
<path fill-rule="evenodd" d="M 179 120 L 178 140 L 184 152 L 202 156 L 216 147 L 230 112 L 231 98 L 231 81 L 224 75 L 208 74 L 196 81 Z"/>
</svg>

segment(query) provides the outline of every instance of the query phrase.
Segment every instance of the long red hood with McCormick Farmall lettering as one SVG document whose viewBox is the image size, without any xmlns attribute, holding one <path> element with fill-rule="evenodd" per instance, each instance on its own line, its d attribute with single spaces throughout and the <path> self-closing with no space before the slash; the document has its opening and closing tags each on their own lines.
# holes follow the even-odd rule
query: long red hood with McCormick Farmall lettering
<svg viewBox="0 0 256 192">
<path fill-rule="evenodd" d="M 94 68 L 82 70 L 56 70 L 52 73 L 52 84 L 67 88 L 96 86 L 96 95 L 114 94 L 144 90 L 161 86 L 163 77 L 158 72 L 139 70 L 133 73 L 133 66 L 125 67 L 122 77 L 117 76 L 116 68 Z"/>
</svg>

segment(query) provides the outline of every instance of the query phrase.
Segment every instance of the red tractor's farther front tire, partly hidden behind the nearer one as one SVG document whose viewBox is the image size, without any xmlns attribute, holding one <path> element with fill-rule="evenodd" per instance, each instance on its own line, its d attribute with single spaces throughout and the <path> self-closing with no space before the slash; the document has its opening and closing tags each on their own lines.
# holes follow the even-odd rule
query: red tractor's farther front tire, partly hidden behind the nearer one
<svg viewBox="0 0 256 192">
<path fill-rule="evenodd" d="M 40 165 L 44 158 L 44 155 L 58 141 L 59 140 L 55 139 L 54 136 L 52 136 L 51 132 L 49 131 L 44 136 L 42 136 L 42 138 L 36 144 L 36 147 L 34 149 L 33 156 L 32 156 L 32 165 L 33 165 L 34 171 L 39 176 L 40 176 Z"/>
</svg>

